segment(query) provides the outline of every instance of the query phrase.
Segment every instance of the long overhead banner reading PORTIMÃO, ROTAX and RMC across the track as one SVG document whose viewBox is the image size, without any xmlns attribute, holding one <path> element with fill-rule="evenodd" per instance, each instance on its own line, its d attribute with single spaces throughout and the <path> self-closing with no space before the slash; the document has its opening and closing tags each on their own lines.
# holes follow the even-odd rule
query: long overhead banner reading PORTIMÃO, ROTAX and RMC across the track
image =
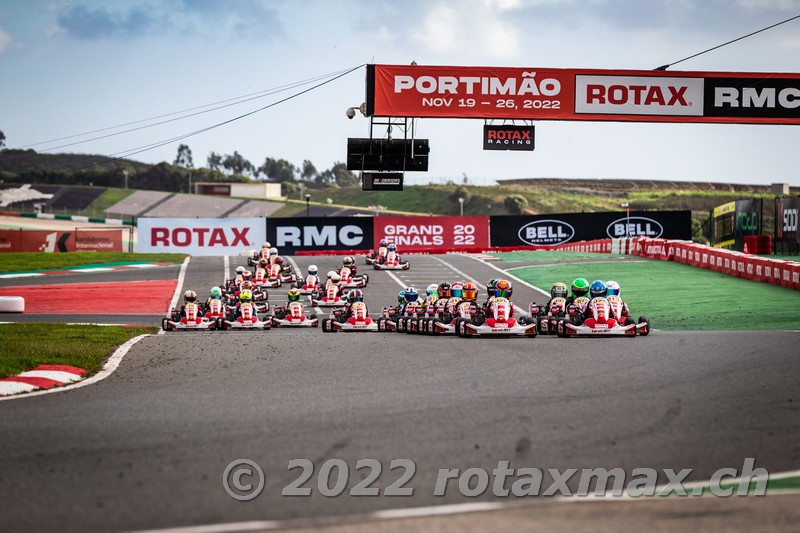
<svg viewBox="0 0 800 533">
<path fill-rule="evenodd" d="M 800 124 L 800 73 L 368 65 L 367 115 Z"/>
</svg>

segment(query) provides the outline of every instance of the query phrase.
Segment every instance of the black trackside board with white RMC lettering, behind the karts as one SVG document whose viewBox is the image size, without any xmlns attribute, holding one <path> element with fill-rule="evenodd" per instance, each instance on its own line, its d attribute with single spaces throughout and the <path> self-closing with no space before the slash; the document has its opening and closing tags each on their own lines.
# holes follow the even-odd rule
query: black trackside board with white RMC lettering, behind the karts
<svg viewBox="0 0 800 533">
<path fill-rule="evenodd" d="M 372 227 L 372 217 L 271 218 L 267 240 L 281 254 L 288 255 L 299 251 L 368 250 L 372 248 Z"/>
</svg>

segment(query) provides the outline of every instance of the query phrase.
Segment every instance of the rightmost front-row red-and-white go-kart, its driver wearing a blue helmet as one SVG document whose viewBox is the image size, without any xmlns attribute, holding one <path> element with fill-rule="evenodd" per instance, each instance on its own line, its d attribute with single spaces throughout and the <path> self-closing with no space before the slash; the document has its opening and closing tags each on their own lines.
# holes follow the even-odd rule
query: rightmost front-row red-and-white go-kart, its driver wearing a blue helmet
<svg viewBox="0 0 800 533">
<path fill-rule="evenodd" d="M 574 318 L 558 321 L 557 334 L 559 337 L 635 337 L 650 333 L 650 319 L 642 316 L 639 321 L 633 317 L 622 316 L 623 302 L 618 296 L 607 298 L 593 298 L 588 305 L 589 317 L 583 318 L 582 314 Z"/>
</svg>

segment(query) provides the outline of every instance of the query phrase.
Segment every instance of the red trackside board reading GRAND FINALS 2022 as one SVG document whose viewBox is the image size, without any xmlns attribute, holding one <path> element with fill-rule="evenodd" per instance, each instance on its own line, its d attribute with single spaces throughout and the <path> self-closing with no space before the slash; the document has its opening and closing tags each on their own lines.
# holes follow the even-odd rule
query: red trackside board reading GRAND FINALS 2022
<svg viewBox="0 0 800 533">
<path fill-rule="evenodd" d="M 376 217 L 373 246 L 381 240 L 399 252 L 459 251 L 489 247 L 489 217 Z"/>
</svg>

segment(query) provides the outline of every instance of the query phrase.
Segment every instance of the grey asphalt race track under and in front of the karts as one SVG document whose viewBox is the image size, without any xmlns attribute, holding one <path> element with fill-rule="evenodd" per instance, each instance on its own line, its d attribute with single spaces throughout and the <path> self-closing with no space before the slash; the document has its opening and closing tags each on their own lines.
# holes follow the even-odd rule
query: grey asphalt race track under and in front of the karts
<svg viewBox="0 0 800 533">
<path fill-rule="evenodd" d="M 231 268 L 240 258 L 232 259 Z M 331 257 L 295 259 L 323 273 L 340 264 Z M 392 303 L 404 284 L 424 289 L 464 277 L 483 284 L 497 275 L 466 256 L 411 260 L 411 270 L 397 273 L 399 282 L 366 270 L 373 313 Z M 222 275 L 222 258 L 193 258 L 184 289 L 204 292 Z M 270 300 L 284 294 L 273 291 Z M 523 307 L 542 298 L 515 284 L 514 300 Z M 433 496 L 439 469 L 491 472 L 502 460 L 512 468 L 621 467 L 628 473 L 691 468 L 690 480 L 708 479 L 722 467 L 741 469 L 747 457 L 771 472 L 796 470 L 797 341 L 794 332 L 747 331 L 604 340 L 280 329 L 152 336 L 95 385 L 0 402 L 3 529 L 349 521 L 382 509 L 506 501 L 491 490 L 467 498 L 453 486 L 444 497 Z M 233 500 L 222 487 L 223 471 L 238 458 L 256 461 L 266 473 L 264 492 L 250 502 Z M 295 458 L 316 466 L 306 484 L 314 489 L 310 497 L 281 496 L 299 475 L 287 469 Z M 375 487 L 397 479 L 399 471 L 388 469 L 392 459 L 412 459 L 416 473 L 407 486 L 414 495 L 323 497 L 316 476 L 331 458 L 346 461 L 351 472 L 358 459 L 378 459 L 384 470 Z M 764 513 L 772 517 L 797 508 L 796 496 L 771 498 Z M 550 505 L 543 497 L 528 503 L 533 521 L 535 506 Z M 767 523 L 759 512 L 729 516 L 724 509 L 734 507 L 716 499 L 712 511 L 691 505 L 680 509 L 701 510 L 674 511 L 683 521 L 673 525 L 757 529 Z M 707 521 L 693 521 L 698 516 Z M 571 525 L 590 528 L 595 519 Z"/>
</svg>

